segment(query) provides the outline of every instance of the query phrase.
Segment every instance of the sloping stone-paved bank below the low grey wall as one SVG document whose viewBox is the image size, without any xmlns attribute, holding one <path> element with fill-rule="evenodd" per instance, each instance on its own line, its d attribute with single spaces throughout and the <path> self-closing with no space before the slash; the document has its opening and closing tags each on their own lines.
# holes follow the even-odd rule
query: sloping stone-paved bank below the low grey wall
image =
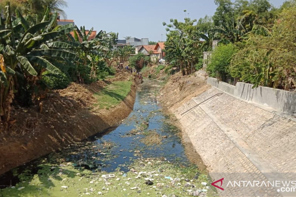
<svg viewBox="0 0 296 197">
<path fill-rule="evenodd" d="M 216 88 L 182 105 L 176 117 L 211 177 L 218 180 L 221 196 L 295 196 L 281 184 L 295 177 L 294 121 Z M 249 185 L 243 184 L 248 180 Z M 254 180 L 259 184 L 252 184 Z"/>
</svg>

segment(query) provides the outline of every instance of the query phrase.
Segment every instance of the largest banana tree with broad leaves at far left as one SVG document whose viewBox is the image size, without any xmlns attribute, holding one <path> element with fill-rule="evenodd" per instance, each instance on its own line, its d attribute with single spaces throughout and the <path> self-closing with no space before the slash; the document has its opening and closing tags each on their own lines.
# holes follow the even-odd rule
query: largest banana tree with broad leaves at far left
<svg viewBox="0 0 296 197">
<path fill-rule="evenodd" d="M 67 50 L 73 47 L 72 43 L 62 41 L 71 27 L 54 26 L 57 14 L 49 17 L 46 12 L 41 22 L 32 25 L 29 17 L 24 18 L 18 10 L 16 13 L 17 17 L 13 17 L 8 4 L 6 20 L 4 23 L 0 20 L 0 54 L 3 59 L 0 72 L 1 122 L 10 119 L 14 93 L 20 89 L 28 90 L 28 86 L 29 89 L 38 89 L 44 70 L 58 74 L 64 67 L 62 60 L 78 60 L 74 53 Z M 59 64 L 55 64 L 57 60 Z M 20 81 L 25 83 L 20 84 Z M 33 92 L 31 101 L 37 97 L 38 92 Z"/>
</svg>

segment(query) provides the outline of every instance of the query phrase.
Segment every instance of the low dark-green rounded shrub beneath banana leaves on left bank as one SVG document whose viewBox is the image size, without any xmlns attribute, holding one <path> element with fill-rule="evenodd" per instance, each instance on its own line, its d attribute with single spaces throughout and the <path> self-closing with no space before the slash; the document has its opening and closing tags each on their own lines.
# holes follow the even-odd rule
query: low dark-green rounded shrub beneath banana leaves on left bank
<svg viewBox="0 0 296 197">
<path fill-rule="evenodd" d="M 52 89 L 64 89 L 68 87 L 70 80 L 65 73 L 52 74 L 49 71 L 45 71 L 42 74 L 42 79 Z"/>
</svg>

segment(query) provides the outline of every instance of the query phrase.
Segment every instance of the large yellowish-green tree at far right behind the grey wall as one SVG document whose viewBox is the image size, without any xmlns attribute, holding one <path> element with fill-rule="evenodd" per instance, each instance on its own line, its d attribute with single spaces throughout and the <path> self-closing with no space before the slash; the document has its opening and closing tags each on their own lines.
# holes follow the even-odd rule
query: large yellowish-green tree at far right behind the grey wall
<svg viewBox="0 0 296 197">
<path fill-rule="evenodd" d="M 296 77 L 296 11 L 284 9 L 267 36 L 250 34 L 231 60 L 229 71 L 238 81 L 293 89 Z"/>
</svg>

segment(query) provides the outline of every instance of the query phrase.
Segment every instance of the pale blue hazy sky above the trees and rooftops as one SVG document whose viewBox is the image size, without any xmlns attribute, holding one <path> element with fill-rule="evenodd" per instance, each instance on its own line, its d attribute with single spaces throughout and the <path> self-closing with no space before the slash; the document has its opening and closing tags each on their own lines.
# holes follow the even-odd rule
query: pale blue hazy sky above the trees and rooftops
<svg viewBox="0 0 296 197">
<path fill-rule="evenodd" d="M 214 0 L 66 0 L 67 19 L 86 29 L 118 32 L 119 39 L 125 36 L 149 38 L 150 41 L 165 40 L 165 27 L 171 18 L 183 20 L 184 9 L 191 19 L 212 16 L 216 10 Z M 270 0 L 278 7 L 285 0 Z M 163 34 L 163 36 L 161 35 Z"/>
</svg>

